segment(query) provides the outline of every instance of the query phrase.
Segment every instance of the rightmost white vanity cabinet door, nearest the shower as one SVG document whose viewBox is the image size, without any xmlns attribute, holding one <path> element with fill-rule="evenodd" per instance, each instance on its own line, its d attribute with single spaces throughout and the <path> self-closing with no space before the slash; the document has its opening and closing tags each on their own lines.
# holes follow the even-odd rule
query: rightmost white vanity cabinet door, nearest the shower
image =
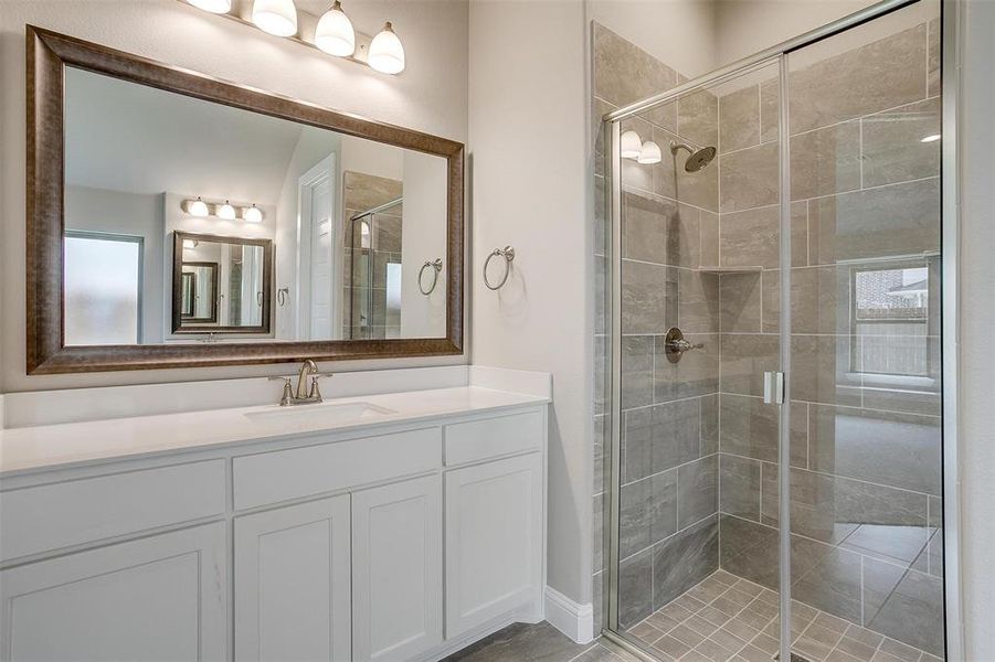
<svg viewBox="0 0 995 662">
<path fill-rule="evenodd" d="M 536 599 L 541 471 L 534 453 L 446 474 L 446 638 Z"/>
</svg>

